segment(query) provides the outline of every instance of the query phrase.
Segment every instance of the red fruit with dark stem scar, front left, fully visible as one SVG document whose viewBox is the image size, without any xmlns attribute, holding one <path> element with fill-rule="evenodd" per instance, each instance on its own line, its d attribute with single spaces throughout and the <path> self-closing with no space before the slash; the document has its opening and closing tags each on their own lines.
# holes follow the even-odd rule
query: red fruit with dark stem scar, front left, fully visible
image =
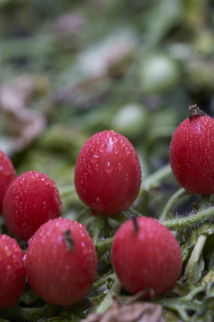
<svg viewBox="0 0 214 322">
<path fill-rule="evenodd" d="M 83 300 L 95 280 L 95 245 L 85 225 L 49 220 L 29 240 L 26 265 L 29 284 L 43 300 L 70 305 Z"/>
</svg>

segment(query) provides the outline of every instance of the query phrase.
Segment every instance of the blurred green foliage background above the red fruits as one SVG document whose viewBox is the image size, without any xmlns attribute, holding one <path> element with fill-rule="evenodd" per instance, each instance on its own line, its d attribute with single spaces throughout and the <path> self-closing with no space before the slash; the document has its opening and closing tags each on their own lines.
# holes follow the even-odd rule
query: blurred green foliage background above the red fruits
<svg viewBox="0 0 214 322">
<path fill-rule="evenodd" d="M 0 0 L 0 148 L 17 174 L 73 184 L 96 131 L 128 137 L 143 179 L 187 106 L 214 114 L 214 2 Z"/>
</svg>

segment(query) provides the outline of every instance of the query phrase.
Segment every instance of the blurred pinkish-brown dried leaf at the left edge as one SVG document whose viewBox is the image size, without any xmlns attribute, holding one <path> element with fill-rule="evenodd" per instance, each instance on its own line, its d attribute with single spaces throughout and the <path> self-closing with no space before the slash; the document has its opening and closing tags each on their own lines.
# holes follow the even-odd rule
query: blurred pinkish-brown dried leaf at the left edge
<svg viewBox="0 0 214 322">
<path fill-rule="evenodd" d="M 11 152 L 20 151 L 45 129 L 45 116 L 28 108 L 29 100 L 46 86 L 43 79 L 23 75 L 0 88 L 4 126 L 12 134 Z M 42 85 L 41 85 L 42 84 Z"/>
</svg>

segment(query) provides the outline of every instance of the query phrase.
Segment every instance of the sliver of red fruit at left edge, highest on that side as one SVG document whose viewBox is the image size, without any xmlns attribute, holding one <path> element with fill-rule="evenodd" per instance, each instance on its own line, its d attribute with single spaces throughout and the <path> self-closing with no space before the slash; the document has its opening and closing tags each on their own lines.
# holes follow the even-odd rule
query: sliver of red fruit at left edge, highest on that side
<svg viewBox="0 0 214 322">
<path fill-rule="evenodd" d="M 15 175 L 11 159 L 0 150 L 0 214 L 2 213 L 4 194 L 15 179 Z"/>
</svg>

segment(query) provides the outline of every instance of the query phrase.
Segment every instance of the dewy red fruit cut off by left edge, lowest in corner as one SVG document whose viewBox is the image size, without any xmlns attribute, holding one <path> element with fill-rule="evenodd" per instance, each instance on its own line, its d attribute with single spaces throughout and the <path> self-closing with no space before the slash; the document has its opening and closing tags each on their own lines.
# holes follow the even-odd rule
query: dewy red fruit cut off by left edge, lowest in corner
<svg viewBox="0 0 214 322">
<path fill-rule="evenodd" d="M 0 309 L 4 309 L 18 304 L 26 284 L 25 255 L 6 234 L 0 235 L 0 267 Z"/>
</svg>

